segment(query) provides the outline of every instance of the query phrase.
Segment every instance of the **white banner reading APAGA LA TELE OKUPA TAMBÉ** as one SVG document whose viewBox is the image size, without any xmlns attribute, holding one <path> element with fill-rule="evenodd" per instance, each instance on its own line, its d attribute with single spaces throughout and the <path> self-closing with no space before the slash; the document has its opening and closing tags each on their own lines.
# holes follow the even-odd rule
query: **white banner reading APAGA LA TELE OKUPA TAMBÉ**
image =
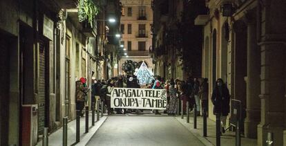
<svg viewBox="0 0 286 146">
<path fill-rule="evenodd" d="M 166 109 L 165 89 L 114 88 L 111 108 Z"/>
</svg>

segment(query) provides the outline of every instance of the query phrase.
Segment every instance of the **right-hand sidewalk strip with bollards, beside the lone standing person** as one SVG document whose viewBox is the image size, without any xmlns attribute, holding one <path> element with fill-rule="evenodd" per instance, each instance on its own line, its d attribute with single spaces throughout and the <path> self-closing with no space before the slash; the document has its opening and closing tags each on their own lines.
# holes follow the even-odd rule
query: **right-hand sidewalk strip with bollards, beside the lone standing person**
<svg viewBox="0 0 286 146">
<path fill-rule="evenodd" d="M 202 116 L 197 117 L 197 129 L 193 129 L 193 115 L 190 116 L 189 123 L 187 123 L 187 116 L 184 119 L 181 116 L 175 117 L 179 122 L 181 122 L 184 127 L 186 127 L 191 133 L 197 136 L 198 139 L 204 143 L 204 145 L 216 145 L 216 122 L 207 118 L 207 137 L 202 136 Z M 220 137 L 220 144 L 222 146 L 236 145 L 235 132 L 226 131 Z M 243 146 L 254 146 L 257 145 L 256 139 L 251 138 L 241 138 L 241 145 Z"/>
</svg>

